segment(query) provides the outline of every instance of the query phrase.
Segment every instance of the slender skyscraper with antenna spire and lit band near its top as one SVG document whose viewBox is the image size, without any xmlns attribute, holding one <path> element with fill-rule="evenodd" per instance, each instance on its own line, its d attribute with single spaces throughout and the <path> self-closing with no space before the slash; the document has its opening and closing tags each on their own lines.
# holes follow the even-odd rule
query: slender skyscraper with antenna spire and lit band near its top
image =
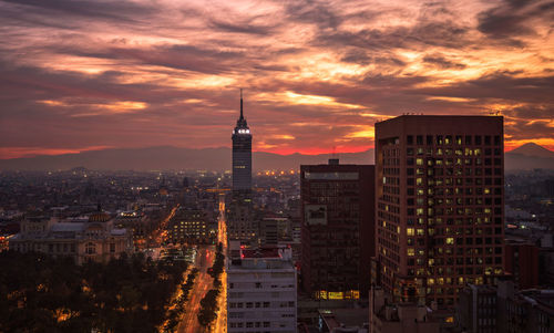
<svg viewBox="0 0 554 333">
<path fill-rule="evenodd" d="M 240 117 L 233 131 L 233 191 L 252 190 L 252 134 L 243 115 L 243 90 L 240 90 Z"/>
</svg>

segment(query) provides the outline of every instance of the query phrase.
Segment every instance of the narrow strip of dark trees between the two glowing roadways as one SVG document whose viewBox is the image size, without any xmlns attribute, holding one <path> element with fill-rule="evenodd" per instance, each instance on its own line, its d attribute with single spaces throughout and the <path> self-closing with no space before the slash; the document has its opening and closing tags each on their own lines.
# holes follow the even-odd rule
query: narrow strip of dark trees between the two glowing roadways
<svg viewBox="0 0 554 333">
<path fill-rule="evenodd" d="M 217 319 L 217 298 L 219 296 L 222 281 L 220 275 L 225 264 L 225 256 L 223 254 L 223 244 L 217 244 L 214 266 L 209 272 L 214 278 L 214 288 L 211 289 L 204 299 L 201 301 L 201 311 L 198 313 L 198 322 L 203 326 L 209 326 Z"/>
</svg>

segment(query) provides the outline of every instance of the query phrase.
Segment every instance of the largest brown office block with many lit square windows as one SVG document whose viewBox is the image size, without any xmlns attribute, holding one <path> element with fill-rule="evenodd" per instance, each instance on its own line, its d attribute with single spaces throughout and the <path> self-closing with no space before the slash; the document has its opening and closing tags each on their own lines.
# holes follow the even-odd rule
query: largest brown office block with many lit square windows
<svg viewBox="0 0 554 333">
<path fill-rule="evenodd" d="M 503 274 L 501 116 L 403 115 L 376 124 L 377 260 L 386 292 L 451 308 Z"/>
</svg>

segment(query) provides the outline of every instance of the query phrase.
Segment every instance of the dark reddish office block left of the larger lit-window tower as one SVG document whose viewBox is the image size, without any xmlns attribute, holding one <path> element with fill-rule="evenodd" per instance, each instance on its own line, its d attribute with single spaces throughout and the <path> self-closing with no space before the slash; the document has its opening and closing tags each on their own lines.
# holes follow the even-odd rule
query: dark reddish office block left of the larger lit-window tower
<svg viewBox="0 0 554 333">
<path fill-rule="evenodd" d="M 301 273 L 317 299 L 367 298 L 375 251 L 375 166 L 300 166 Z"/>
</svg>

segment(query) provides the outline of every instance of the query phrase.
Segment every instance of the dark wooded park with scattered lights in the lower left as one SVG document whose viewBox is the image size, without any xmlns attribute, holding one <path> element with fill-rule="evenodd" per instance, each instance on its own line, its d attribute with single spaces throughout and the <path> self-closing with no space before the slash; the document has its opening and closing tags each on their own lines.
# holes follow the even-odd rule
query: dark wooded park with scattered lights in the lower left
<svg viewBox="0 0 554 333">
<path fill-rule="evenodd" d="M 156 332 L 187 264 L 6 251 L 0 267 L 0 332 Z"/>
</svg>

